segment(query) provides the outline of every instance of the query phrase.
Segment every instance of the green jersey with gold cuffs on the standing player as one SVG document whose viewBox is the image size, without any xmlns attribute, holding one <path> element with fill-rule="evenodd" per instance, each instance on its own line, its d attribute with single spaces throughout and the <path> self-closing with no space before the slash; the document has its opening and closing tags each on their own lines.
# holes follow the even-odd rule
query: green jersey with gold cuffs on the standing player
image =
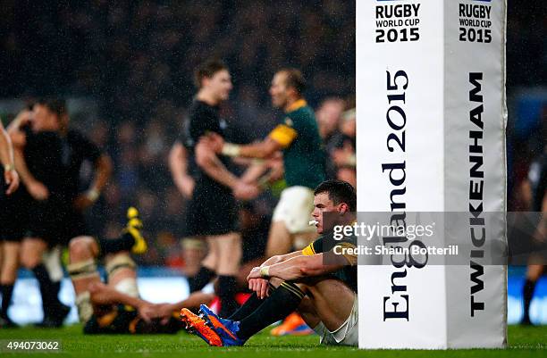
<svg viewBox="0 0 547 358">
<path fill-rule="evenodd" d="M 316 188 L 325 179 L 325 152 L 316 116 L 306 101 L 292 104 L 269 137 L 283 147 L 287 187 Z"/>
</svg>

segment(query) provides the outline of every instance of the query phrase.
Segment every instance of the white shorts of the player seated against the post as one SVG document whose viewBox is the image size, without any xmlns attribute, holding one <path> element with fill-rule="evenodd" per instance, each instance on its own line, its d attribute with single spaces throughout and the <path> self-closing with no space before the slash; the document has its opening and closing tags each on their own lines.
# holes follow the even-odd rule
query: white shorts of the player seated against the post
<svg viewBox="0 0 547 358">
<path fill-rule="evenodd" d="M 314 328 L 317 335 L 319 335 L 319 343 L 322 345 L 334 345 L 334 346 L 358 346 L 358 296 L 353 298 L 353 307 L 349 313 L 348 319 L 341 325 L 339 329 L 331 332 L 324 327 L 323 322 Z"/>
</svg>

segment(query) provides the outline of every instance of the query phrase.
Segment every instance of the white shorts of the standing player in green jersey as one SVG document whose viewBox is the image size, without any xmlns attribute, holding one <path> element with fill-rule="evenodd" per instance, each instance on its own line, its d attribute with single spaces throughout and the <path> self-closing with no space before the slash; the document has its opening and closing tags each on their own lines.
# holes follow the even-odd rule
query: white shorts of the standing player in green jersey
<svg viewBox="0 0 547 358">
<path fill-rule="evenodd" d="M 314 211 L 314 191 L 309 187 L 287 187 L 273 210 L 273 222 L 282 221 L 290 234 L 316 231 L 309 225 Z"/>
</svg>

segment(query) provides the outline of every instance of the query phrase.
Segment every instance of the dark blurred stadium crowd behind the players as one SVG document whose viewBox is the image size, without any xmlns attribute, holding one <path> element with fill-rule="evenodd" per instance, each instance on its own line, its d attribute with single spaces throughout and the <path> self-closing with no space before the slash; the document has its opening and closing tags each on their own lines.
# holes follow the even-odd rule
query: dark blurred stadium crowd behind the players
<svg viewBox="0 0 547 358">
<path fill-rule="evenodd" d="M 96 0 L 21 6 L 8 0 L 2 6 L 0 66 L 10 71 L 0 71 L 0 96 L 97 102 L 97 118 L 73 125 L 112 156 L 114 178 L 88 220 L 95 233 L 112 237 L 125 208 L 138 205 L 152 243 L 139 263 L 184 265 L 179 238 L 185 199 L 173 185 L 167 161 L 194 93 L 191 70 L 204 55 L 222 57 L 230 66 L 234 90 L 223 117 L 235 128 L 233 142 L 251 142 L 273 128 L 279 113 L 269 103 L 269 81 L 277 69 L 295 66 L 307 79 L 306 97 L 331 154 L 329 175 L 355 175 L 342 164 L 355 149 L 355 116 L 346 112 L 355 107 L 354 1 L 281 0 L 270 6 L 266 1 Z M 545 7 L 540 1 L 509 2 L 509 95 L 519 86 L 547 83 Z M 509 132 L 509 160 L 516 163 L 509 167 L 509 184 L 517 193 L 542 140 L 544 145 L 544 132 L 537 129 L 546 112 L 526 131 Z M 6 124 L 16 113 L 0 114 Z M 274 196 L 275 190 L 242 205 L 244 242 L 255 251 L 265 246 Z M 512 202 L 515 208 L 518 203 L 518 198 Z"/>
</svg>

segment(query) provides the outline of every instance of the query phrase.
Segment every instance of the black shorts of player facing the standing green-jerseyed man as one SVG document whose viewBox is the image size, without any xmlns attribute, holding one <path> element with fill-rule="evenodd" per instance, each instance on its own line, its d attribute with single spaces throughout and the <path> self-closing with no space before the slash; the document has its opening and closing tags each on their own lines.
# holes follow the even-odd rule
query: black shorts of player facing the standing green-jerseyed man
<svg viewBox="0 0 547 358">
<path fill-rule="evenodd" d="M 226 235 L 238 230 L 239 210 L 231 190 L 198 182 L 186 207 L 184 237 Z"/>
</svg>

